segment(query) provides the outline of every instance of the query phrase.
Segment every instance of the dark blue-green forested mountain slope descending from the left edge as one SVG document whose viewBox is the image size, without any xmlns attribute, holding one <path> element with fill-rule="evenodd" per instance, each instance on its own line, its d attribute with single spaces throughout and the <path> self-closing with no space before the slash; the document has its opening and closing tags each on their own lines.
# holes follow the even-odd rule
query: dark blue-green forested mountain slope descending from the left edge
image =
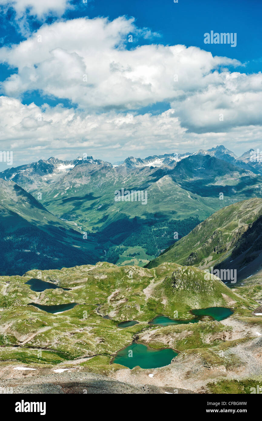
<svg viewBox="0 0 262 421">
<path fill-rule="evenodd" d="M 95 243 L 53 216 L 13 181 L 0 180 L 0 272 L 94 262 Z"/>
</svg>

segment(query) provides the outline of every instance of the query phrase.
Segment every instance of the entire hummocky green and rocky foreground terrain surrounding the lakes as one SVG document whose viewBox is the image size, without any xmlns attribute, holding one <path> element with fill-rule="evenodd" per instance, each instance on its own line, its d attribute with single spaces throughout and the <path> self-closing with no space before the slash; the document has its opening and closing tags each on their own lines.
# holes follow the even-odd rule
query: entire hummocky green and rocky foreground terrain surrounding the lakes
<svg viewBox="0 0 262 421">
<path fill-rule="evenodd" d="M 35 292 L 32 279 L 56 289 Z M 193 266 L 153 269 L 99 262 L 0 277 L 2 393 L 250 393 L 262 386 L 262 279 L 228 288 Z M 64 290 L 62 288 L 69 288 Z M 30 303 L 77 303 L 51 314 Z M 230 317 L 149 325 L 160 314 L 223 306 Z M 119 322 L 139 323 L 118 327 Z M 178 352 L 169 365 L 132 370 L 112 363 L 133 341 Z"/>
</svg>

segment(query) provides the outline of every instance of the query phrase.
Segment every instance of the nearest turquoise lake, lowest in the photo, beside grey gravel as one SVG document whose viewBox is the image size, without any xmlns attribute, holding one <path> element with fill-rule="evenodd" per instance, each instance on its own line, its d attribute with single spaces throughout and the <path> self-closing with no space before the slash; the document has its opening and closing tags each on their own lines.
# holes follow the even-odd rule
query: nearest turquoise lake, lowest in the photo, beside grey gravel
<svg viewBox="0 0 262 421">
<path fill-rule="evenodd" d="M 141 368 L 164 367 L 171 363 L 177 352 L 174 349 L 152 349 L 135 342 L 118 351 L 111 364 L 121 364 L 130 369 L 139 365 Z"/>
</svg>

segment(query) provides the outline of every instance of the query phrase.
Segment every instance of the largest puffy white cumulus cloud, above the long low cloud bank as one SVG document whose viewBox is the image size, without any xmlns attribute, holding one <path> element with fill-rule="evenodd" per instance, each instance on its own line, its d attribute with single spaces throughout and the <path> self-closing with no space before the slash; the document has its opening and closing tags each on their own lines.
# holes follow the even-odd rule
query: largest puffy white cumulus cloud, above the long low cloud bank
<svg viewBox="0 0 262 421">
<path fill-rule="evenodd" d="M 214 82 L 214 69 L 240 64 L 184 45 L 128 50 L 131 33 L 143 30 L 126 17 L 43 25 L 26 41 L 0 50 L 0 59 L 18 68 L 2 87 L 9 96 L 39 90 L 88 109 L 138 109 L 203 90 Z"/>
</svg>

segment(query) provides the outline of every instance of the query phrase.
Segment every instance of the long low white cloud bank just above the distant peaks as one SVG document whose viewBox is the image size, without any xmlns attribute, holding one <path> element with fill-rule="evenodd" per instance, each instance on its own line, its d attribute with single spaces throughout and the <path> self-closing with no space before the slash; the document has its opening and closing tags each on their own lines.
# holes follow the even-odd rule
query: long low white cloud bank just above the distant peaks
<svg viewBox="0 0 262 421">
<path fill-rule="evenodd" d="M 24 105 L 0 97 L 1 150 L 12 150 L 14 166 L 50 156 L 72 159 L 83 153 L 115 162 L 127 156 L 207 149 L 216 144 L 242 153 L 261 144 L 261 126 L 221 133 L 189 133 L 174 109 L 159 115 L 111 111 L 88 113 L 61 106 Z"/>
</svg>

